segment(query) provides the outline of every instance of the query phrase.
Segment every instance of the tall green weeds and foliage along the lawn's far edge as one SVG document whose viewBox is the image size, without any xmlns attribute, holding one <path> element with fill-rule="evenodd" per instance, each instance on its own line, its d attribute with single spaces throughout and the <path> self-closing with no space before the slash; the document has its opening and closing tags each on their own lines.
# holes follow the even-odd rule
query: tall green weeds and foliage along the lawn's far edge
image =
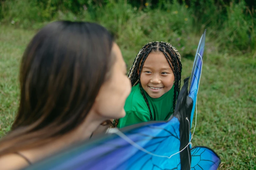
<svg viewBox="0 0 256 170">
<path fill-rule="evenodd" d="M 252 51 L 256 47 L 256 12 L 241 0 L 8 0 L 0 1 L 6 24 L 38 29 L 55 20 L 94 21 L 107 27 L 120 43 L 142 47 L 167 41 L 183 56 L 193 56 L 206 28 L 212 50 Z M 250 5 L 253 7 L 253 4 Z M 126 46 L 124 44 L 124 46 Z M 136 49 L 140 48 L 136 47 Z"/>
</svg>

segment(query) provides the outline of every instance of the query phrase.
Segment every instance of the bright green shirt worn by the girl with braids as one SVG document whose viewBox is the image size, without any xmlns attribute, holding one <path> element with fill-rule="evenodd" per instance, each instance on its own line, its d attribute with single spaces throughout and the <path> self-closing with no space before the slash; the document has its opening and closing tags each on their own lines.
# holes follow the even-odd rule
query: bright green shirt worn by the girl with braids
<svg viewBox="0 0 256 170">
<path fill-rule="evenodd" d="M 156 99 L 151 98 L 146 92 L 145 95 L 152 112 L 153 120 L 168 120 L 173 114 L 174 86 L 169 92 Z M 131 93 L 125 102 L 125 111 L 126 116 L 119 120 L 118 128 L 150 121 L 149 109 L 143 98 L 139 84 L 132 87 Z"/>
</svg>

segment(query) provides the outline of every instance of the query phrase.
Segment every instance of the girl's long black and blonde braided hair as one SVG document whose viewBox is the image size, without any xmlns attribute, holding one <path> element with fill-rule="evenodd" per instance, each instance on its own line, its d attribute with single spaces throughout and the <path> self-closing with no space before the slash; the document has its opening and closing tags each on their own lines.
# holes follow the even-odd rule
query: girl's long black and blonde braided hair
<svg viewBox="0 0 256 170">
<path fill-rule="evenodd" d="M 166 57 L 170 67 L 172 68 L 175 82 L 174 82 L 174 97 L 173 97 L 173 112 L 175 111 L 175 105 L 176 105 L 176 100 L 177 96 L 179 95 L 179 90 L 180 90 L 180 81 L 181 81 L 181 70 L 182 70 L 182 65 L 180 61 L 180 54 L 178 50 L 173 47 L 171 44 L 166 43 L 166 42 L 150 42 L 146 44 L 137 54 L 131 68 L 128 74 L 128 78 L 131 80 L 131 85 L 135 86 L 139 83 L 141 93 L 144 97 L 144 100 L 147 104 L 147 107 L 150 112 L 150 120 L 153 120 L 151 109 L 148 104 L 148 100 L 146 98 L 145 92 L 143 91 L 143 88 L 141 86 L 140 82 L 140 76 L 141 76 L 141 71 L 142 67 L 144 65 L 144 62 L 150 52 L 162 52 L 164 56 Z M 169 54 L 169 55 L 168 55 Z M 140 65 L 141 62 L 141 65 Z M 139 67 L 140 65 L 140 67 Z M 137 70 L 139 69 L 139 74 Z M 116 119 L 114 124 L 117 127 L 119 122 L 119 119 Z"/>
</svg>

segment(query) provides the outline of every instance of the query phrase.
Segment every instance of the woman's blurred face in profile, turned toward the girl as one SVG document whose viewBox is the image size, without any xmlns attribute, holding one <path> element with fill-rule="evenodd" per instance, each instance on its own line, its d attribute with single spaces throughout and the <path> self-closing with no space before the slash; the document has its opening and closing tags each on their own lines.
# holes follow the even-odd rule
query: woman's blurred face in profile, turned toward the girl
<svg viewBox="0 0 256 170">
<path fill-rule="evenodd" d="M 131 92 L 131 82 L 126 74 L 126 63 L 116 43 L 112 47 L 115 62 L 111 68 L 110 79 L 101 87 L 93 108 L 101 117 L 118 119 L 126 115 L 124 105 Z"/>
</svg>

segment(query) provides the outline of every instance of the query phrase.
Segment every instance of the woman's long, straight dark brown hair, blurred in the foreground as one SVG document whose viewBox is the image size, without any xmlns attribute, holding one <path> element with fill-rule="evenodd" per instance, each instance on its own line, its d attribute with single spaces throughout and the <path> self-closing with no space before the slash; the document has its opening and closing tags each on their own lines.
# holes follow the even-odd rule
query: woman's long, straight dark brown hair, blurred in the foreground
<svg viewBox="0 0 256 170">
<path fill-rule="evenodd" d="M 56 21 L 31 40 L 20 69 L 20 105 L 0 155 L 45 144 L 79 126 L 111 76 L 113 38 L 89 22 Z"/>
</svg>

